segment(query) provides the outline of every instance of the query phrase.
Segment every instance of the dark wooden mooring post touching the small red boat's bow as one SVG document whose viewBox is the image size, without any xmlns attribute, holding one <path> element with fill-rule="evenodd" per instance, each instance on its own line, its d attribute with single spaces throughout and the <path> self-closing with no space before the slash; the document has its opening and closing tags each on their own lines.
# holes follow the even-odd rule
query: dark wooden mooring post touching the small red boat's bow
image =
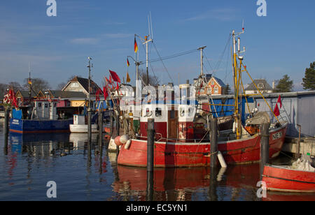
<svg viewBox="0 0 315 215">
<path fill-rule="evenodd" d="M 269 123 L 261 125 L 260 138 L 260 177 L 264 171 L 264 167 L 269 163 Z"/>
</svg>

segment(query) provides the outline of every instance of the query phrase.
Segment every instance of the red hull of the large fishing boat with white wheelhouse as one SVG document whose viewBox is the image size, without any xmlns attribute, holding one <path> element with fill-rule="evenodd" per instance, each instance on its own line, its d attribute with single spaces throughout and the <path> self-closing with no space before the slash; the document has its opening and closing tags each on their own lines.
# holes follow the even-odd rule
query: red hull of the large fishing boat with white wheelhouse
<svg viewBox="0 0 315 215">
<path fill-rule="evenodd" d="M 285 136 L 286 126 L 270 132 L 270 158 L 279 155 Z M 155 142 L 154 165 L 161 168 L 209 166 L 210 148 L 209 142 Z M 218 151 L 228 164 L 260 161 L 260 135 L 218 142 Z M 121 147 L 118 164 L 146 167 L 147 141 L 133 139 L 129 149 Z"/>
</svg>

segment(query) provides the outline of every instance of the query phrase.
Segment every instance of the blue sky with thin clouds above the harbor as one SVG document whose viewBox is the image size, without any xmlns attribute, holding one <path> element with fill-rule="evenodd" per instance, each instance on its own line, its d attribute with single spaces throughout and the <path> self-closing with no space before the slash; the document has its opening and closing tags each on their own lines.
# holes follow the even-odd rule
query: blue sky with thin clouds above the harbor
<svg viewBox="0 0 315 215">
<path fill-rule="evenodd" d="M 204 69 L 232 84 L 230 44 L 223 54 L 232 29 L 240 30 L 244 19 L 245 64 L 254 78 L 269 84 L 288 74 L 295 90 L 305 68 L 315 61 L 315 1 L 267 1 L 267 17 L 258 17 L 255 0 L 244 1 L 98 1 L 56 0 L 57 17 L 46 15 L 46 0 L 10 0 L 0 3 L 0 74 L 3 83 L 28 76 L 47 80 L 52 88 L 71 75 L 87 77 L 87 57 L 93 58 L 93 80 L 102 85 L 109 69 L 120 77 L 127 70 L 134 80 L 134 34 L 148 34 L 148 14 L 153 21 L 154 43 L 162 57 L 204 50 Z M 138 40 L 138 44 L 140 41 Z M 154 46 L 151 58 L 157 58 Z M 223 57 L 221 55 L 223 54 Z M 139 45 L 139 58 L 145 59 Z M 218 61 L 221 59 L 221 64 Z M 200 53 L 164 61 L 175 84 L 200 73 Z M 216 66 L 219 65 L 219 66 Z M 144 68 L 144 67 L 142 67 Z M 161 62 L 151 64 L 150 73 L 163 83 L 171 82 Z M 123 78 L 122 78 L 123 79 Z M 244 74 L 244 82 L 249 83 Z"/>
</svg>

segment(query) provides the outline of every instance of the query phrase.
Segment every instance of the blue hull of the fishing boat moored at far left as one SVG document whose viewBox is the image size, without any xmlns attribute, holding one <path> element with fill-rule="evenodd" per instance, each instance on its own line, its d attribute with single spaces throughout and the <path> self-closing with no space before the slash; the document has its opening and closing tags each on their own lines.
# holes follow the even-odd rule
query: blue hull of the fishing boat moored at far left
<svg viewBox="0 0 315 215">
<path fill-rule="evenodd" d="M 68 133 L 73 119 L 34 120 L 10 119 L 10 132 L 13 133 Z"/>
</svg>

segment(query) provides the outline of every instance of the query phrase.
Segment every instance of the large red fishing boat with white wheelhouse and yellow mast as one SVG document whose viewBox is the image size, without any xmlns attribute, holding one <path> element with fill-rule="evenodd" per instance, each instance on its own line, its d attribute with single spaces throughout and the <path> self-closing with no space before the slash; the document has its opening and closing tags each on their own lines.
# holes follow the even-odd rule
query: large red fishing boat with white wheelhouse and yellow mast
<svg viewBox="0 0 315 215">
<path fill-rule="evenodd" d="M 234 51 L 233 58 L 233 77 L 235 84 L 233 129 L 229 131 L 219 131 L 218 151 L 221 151 L 226 163 L 252 163 L 260 161 L 260 125 L 270 122 L 269 114 L 255 112 L 251 114 L 243 124 L 241 121 L 241 102 L 246 100 L 246 95 L 241 94 L 241 73 L 246 71 L 244 57 L 241 51 L 236 48 L 236 36 L 244 33 L 232 32 Z M 238 45 L 240 39 L 238 38 Z M 204 49 L 204 47 L 199 50 Z M 201 60 L 203 57 L 201 57 Z M 201 61 L 201 68 L 202 68 Z M 248 73 L 249 75 L 249 73 Z M 250 76 L 251 77 L 251 76 Z M 199 77 L 200 82 L 204 80 L 203 71 Z M 197 87 L 197 91 L 202 88 Z M 256 86 L 258 89 L 258 87 Z M 260 90 L 258 92 L 261 94 Z M 191 94 L 190 94 L 191 95 Z M 172 98 L 172 96 L 170 96 Z M 209 118 L 216 117 L 216 114 L 205 113 L 200 110 L 202 101 L 199 98 L 190 101 L 164 101 L 141 105 L 140 133 L 130 135 L 130 141 L 120 142 L 117 138 L 116 144 L 122 145 L 119 156 L 119 165 L 146 167 L 147 165 L 147 131 L 148 119 L 154 119 L 155 127 L 155 147 L 154 147 L 154 166 L 160 168 L 174 167 L 200 167 L 209 166 L 211 156 L 211 142 L 209 138 Z M 209 105 L 211 98 L 209 98 Z M 271 110 L 272 112 L 272 110 Z M 274 114 L 274 112 L 272 112 Z M 279 121 L 275 116 L 276 122 L 269 128 L 269 157 L 275 158 L 279 155 L 284 138 L 286 136 L 287 123 Z"/>
</svg>

